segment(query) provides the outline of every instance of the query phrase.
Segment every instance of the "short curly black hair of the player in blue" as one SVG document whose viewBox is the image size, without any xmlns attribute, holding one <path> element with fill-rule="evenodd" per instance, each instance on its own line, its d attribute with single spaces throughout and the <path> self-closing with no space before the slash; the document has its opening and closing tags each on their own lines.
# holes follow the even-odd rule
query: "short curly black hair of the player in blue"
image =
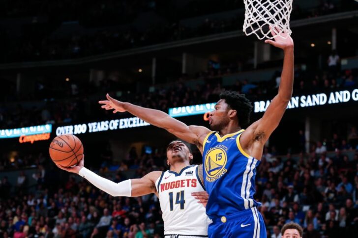
<svg viewBox="0 0 358 238">
<path fill-rule="evenodd" d="M 252 105 L 245 95 L 233 91 L 223 91 L 220 94 L 220 99 L 225 100 L 231 109 L 237 111 L 240 127 L 246 128 L 250 123 Z"/>
</svg>

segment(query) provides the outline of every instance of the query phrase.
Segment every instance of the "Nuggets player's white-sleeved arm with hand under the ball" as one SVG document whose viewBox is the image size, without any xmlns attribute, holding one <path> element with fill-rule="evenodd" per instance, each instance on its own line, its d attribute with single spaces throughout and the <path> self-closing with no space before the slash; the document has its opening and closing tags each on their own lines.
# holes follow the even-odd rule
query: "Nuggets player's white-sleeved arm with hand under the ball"
<svg viewBox="0 0 358 238">
<path fill-rule="evenodd" d="M 138 197 L 150 193 L 156 194 L 155 181 L 162 173 L 160 171 L 154 171 L 150 172 L 141 179 L 125 180 L 120 183 L 115 183 L 85 168 L 84 159 L 81 159 L 80 162 L 73 167 L 67 168 L 58 164 L 57 166 L 67 172 L 75 173 L 82 176 L 83 178 L 87 179 L 92 185 L 95 185 L 99 189 L 107 192 L 114 197 Z"/>
</svg>

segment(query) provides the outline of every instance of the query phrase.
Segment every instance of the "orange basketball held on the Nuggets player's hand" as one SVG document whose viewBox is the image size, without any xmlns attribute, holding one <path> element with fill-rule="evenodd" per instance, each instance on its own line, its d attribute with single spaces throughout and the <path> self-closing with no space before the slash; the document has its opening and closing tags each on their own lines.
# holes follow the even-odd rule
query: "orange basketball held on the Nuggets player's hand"
<svg viewBox="0 0 358 238">
<path fill-rule="evenodd" d="M 52 161 L 64 167 L 71 167 L 83 158 L 82 142 L 72 134 L 55 137 L 50 144 L 49 152 Z"/>
</svg>

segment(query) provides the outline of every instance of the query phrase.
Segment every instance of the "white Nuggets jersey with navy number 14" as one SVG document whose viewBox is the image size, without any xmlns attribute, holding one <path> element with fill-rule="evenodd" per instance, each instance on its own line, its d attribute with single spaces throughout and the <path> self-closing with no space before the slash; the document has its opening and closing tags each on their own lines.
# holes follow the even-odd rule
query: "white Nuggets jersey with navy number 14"
<svg viewBox="0 0 358 238">
<path fill-rule="evenodd" d="M 165 237 L 208 236 L 210 219 L 204 206 L 191 195 L 192 192 L 205 191 L 198 168 L 198 165 L 189 165 L 179 173 L 167 170 L 155 182 Z"/>
</svg>

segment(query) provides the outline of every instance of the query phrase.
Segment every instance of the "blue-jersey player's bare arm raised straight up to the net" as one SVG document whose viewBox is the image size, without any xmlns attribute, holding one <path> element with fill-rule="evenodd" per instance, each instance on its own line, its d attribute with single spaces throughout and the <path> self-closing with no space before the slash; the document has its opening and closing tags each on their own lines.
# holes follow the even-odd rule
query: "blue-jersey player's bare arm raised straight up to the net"
<svg viewBox="0 0 358 238">
<path fill-rule="evenodd" d="M 264 116 L 248 127 L 239 138 L 241 147 L 250 156 L 257 159 L 261 158 L 265 143 L 280 123 L 292 97 L 294 82 L 294 42 L 290 36 L 285 33 L 281 34 L 287 38 L 284 39 L 277 36 L 275 41 L 265 41 L 284 51 L 283 70 L 278 93 L 269 104 Z"/>
</svg>

